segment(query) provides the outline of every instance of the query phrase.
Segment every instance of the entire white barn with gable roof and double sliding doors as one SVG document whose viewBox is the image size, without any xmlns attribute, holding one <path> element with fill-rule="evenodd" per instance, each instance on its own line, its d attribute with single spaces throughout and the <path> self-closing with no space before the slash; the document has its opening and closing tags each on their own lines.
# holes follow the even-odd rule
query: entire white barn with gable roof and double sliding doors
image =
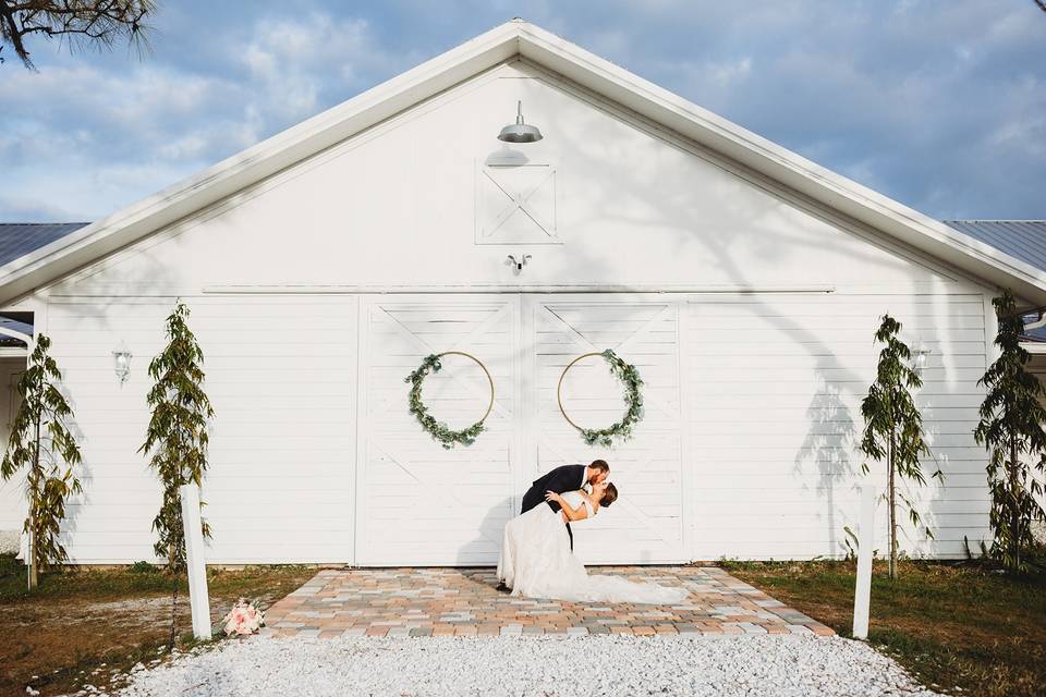
<svg viewBox="0 0 1046 697">
<path fill-rule="evenodd" d="M 510 146 L 520 100 L 545 137 Z M 913 492 L 936 539 L 907 527 L 901 545 L 953 558 L 989 537 L 972 430 L 1000 288 L 1046 305 L 1042 270 L 513 21 L 9 261 L 0 311 L 64 371 L 76 563 L 153 559 L 160 490 L 137 449 L 179 297 L 217 412 L 212 563 L 491 564 L 530 481 L 594 457 L 622 498 L 576 526 L 586 562 L 841 555 L 887 311 L 929 351 L 927 469 L 946 475 Z M 557 401 L 563 367 L 607 347 L 646 382 L 613 449 Z M 10 386 L 24 351 L 3 351 Z M 470 448 L 408 413 L 404 377 L 446 351 L 495 384 Z M 462 427 L 487 381 L 446 366 L 426 403 Z M 608 425 L 620 386 L 586 359 L 563 406 Z M 19 528 L 16 482 L 0 505 Z"/>
</svg>

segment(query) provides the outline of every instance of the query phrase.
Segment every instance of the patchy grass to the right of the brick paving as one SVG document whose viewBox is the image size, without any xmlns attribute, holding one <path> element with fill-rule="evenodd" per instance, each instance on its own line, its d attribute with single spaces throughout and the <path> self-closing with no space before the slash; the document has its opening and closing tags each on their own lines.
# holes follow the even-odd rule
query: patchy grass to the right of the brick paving
<svg viewBox="0 0 1046 697">
<path fill-rule="evenodd" d="M 722 562 L 731 574 L 850 636 L 852 562 Z M 1046 694 L 1046 574 L 904 561 L 872 580 L 871 644 L 940 692 Z M 956 688 L 961 688 L 957 690 Z"/>
</svg>

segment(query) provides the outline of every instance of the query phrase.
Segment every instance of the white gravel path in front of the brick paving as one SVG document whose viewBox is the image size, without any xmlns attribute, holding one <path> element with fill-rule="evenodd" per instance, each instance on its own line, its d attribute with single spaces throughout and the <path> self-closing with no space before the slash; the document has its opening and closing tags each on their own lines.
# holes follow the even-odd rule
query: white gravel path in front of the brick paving
<svg viewBox="0 0 1046 697">
<path fill-rule="evenodd" d="M 119 694 L 935 695 L 860 641 L 814 636 L 253 637 L 141 670 Z"/>
</svg>

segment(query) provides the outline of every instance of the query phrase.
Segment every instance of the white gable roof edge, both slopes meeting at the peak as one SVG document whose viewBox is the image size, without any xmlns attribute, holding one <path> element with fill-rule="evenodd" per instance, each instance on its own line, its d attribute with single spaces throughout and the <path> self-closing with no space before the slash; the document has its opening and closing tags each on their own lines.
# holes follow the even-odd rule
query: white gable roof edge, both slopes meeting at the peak
<svg viewBox="0 0 1046 697">
<path fill-rule="evenodd" d="M 0 303 L 190 216 L 495 65 L 523 58 L 800 195 L 1046 305 L 1046 272 L 512 20 L 153 196 L 0 266 Z"/>
</svg>

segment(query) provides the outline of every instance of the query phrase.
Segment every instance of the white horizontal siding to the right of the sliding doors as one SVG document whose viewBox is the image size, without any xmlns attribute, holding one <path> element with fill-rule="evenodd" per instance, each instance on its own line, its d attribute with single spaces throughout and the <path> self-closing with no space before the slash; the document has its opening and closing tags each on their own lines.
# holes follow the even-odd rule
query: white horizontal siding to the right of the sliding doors
<svg viewBox="0 0 1046 697">
<path fill-rule="evenodd" d="M 936 539 L 904 518 L 913 555 L 960 557 L 988 538 L 985 455 L 974 442 L 985 367 L 978 294 L 693 298 L 689 437 L 697 559 L 846 554 L 862 481 L 861 400 L 875 377 L 873 334 L 888 311 L 910 346 L 932 350 L 916 401 L 944 484 L 905 487 Z M 885 484 L 885 467 L 869 463 Z M 886 508 L 877 510 L 886 548 Z"/>
</svg>

